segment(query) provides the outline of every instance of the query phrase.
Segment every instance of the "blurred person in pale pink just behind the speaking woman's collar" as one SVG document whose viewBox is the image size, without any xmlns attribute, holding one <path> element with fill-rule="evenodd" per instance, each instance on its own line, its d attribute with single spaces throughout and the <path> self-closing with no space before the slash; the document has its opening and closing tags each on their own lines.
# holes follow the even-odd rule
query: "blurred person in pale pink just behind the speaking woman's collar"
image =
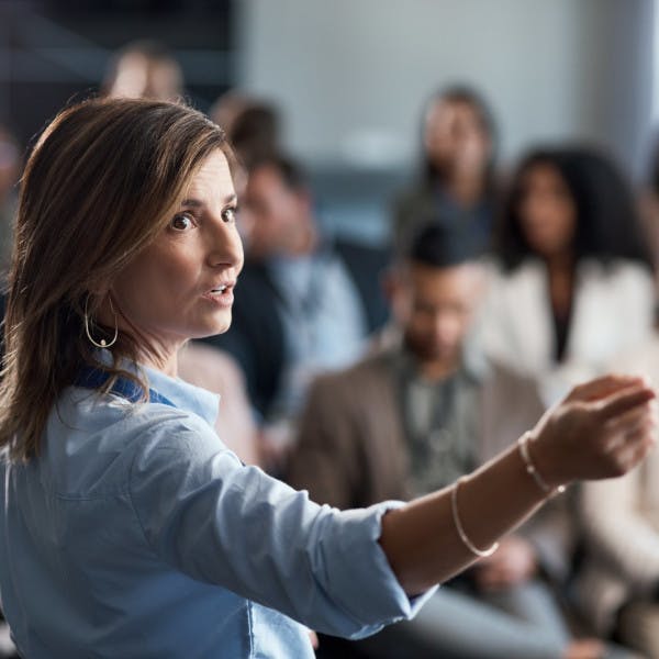
<svg viewBox="0 0 659 659">
<path fill-rule="evenodd" d="M 220 394 L 217 436 L 245 465 L 260 465 L 256 422 L 235 359 L 212 346 L 190 343 L 179 351 L 178 369 L 186 382 Z"/>
</svg>

